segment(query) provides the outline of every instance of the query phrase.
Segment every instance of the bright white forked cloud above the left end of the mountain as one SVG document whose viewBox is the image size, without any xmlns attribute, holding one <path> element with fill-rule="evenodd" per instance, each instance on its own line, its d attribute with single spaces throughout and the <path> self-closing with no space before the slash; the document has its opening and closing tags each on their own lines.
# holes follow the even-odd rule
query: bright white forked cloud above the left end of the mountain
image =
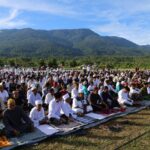
<svg viewBox="0 0 150 150">
<path fill-rule="evenodd" d="M 24 20 L 15 20 L 18 13 L 19 11 L 17 9 L 13 9 L 7 17 L 0 19 L 0 28 L 16 28 L 24 26 L 26 24 Z"/>
</svg>

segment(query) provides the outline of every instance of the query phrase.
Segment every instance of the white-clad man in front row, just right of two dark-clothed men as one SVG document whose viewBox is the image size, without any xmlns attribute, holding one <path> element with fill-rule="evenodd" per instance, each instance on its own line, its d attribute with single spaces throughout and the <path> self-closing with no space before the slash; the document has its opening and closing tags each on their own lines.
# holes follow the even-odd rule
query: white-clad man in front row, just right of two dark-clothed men
<svg viewBox="0 0 150 150">
<path fill-rule="evenodd" d="M 118 102 L 120 105 L 133 105 L 133 100 L 129 98 L 129 87 L 124 87 L 118 93 Z"/>
</svg>

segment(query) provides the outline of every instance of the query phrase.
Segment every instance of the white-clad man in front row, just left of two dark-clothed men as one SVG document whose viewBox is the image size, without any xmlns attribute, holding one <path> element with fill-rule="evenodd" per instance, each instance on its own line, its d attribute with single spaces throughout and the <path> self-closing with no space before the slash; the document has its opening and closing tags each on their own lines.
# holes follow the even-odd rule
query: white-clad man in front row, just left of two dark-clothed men
<svg viewBox="0 0 150 150">
<path fill-rule="evenodd" d="M 82 90 L 79 90 L 78 97 L 73 99 L 72 110 L 81 114 L 93 111 L 91 105 L 89 105 L 88 101 L 84 98 Z"/>
</svg>

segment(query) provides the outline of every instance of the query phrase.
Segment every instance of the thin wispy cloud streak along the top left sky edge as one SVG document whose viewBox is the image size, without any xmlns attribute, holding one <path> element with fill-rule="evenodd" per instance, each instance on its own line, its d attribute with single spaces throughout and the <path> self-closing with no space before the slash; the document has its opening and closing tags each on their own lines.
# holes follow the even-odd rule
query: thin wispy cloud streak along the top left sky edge
<svg viewBox="0 0 150 150">
<path fill-rule="evenodd" d="M 60 16 L 74 16 L 78 12 L 73 11 L 67 5 L 59 5 L 55 1 L 40 1 L 40 0 L 0 0 L 0 6 L 6 8 L 15 8 L 26 11 L 42 11 Z"/>
</svg>

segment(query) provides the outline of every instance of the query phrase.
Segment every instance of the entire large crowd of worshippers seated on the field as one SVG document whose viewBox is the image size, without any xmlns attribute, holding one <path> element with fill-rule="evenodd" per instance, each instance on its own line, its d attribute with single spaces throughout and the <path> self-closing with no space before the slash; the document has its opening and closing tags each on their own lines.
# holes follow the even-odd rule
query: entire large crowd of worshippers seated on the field
<svg viewBox="0 0 150 150">
<path fill-rule="evenodd" d="M 125 111 L 150 95 L 150 71 L 0 70 L 1 134 L 68 124 L 88 112 Z"/>
</svg>

